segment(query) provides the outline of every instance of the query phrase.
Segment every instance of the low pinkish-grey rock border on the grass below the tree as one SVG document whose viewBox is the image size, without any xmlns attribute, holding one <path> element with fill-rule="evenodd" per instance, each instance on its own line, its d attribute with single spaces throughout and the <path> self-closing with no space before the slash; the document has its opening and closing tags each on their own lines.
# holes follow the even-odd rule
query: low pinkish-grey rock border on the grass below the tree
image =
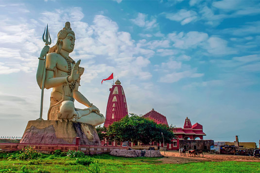
<svg viewBox="0 0 260 173">
<path fill-rule="evenodd" d="M 163 157 L 158 150 L 123 150 L 114 149 L 110 152 L 112 156 L 120 157 Z"/>
</svg>

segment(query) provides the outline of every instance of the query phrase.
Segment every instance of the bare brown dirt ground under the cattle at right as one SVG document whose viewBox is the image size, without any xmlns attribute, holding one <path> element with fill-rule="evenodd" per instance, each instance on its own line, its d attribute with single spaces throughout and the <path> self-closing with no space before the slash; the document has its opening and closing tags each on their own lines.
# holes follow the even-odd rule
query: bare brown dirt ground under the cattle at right
<svg viewBox="0 0 260 173">
<path fill-rule="evenodd" d="M 209 154 L 204 153 L 204 157 L 189 157 L 179 156 L 178 151 L 161 151 L 161 154 L 164 156 L 160 161 L 163 164 L 166 163 L 189 163 L 189 162 L 203 162 L 203 161 L 254 161 L 260 162 L 260 158 L 254 158 L 253 156 L 233 156 L 233 155 L 218 155 L 218 154 Z"/>
</svg>

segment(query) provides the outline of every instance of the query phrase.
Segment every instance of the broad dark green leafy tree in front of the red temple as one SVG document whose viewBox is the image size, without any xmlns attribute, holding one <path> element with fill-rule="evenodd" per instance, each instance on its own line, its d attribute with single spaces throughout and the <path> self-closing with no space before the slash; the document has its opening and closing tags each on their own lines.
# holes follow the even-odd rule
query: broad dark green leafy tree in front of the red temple
<svg viewBox="0 0 260 173">
<path fill-rule="evenodd" d="M 153 120 L 133 114 L 108 126 L 106 138 L 111 141 L 140 141 L 148 144 L 151 141 L 163 142 L 162 133 L 164 142 L 171 142 L 174 137 L 173 126 L 156 124 Z"/>
</svg>

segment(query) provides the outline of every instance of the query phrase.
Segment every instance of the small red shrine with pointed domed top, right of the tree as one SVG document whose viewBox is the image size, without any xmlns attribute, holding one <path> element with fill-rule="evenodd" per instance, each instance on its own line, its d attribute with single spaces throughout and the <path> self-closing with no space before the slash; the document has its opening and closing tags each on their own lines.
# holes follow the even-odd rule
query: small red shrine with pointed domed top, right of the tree
<svg viewBox="0 0 260 173">
<path fill-rule="evenodd" d="M 185 119 L 183 128 L 177 127 L 173 130 L 173 133 L 178 139 L 182 140 L 188 140 L 189 138 L 191 140 L 195 138 L 203 140 L 203 136 L 206 136 L 203 132 L 203 126 L 198 123 L 191 126 L 191 120 L 188 117 Z"/>
</svg>

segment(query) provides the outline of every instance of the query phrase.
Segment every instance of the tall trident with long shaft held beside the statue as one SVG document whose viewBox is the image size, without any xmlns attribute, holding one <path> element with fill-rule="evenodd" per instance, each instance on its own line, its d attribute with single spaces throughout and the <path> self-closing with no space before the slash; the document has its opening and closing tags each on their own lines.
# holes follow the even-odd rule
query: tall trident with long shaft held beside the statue
<svg viewBox="0 0 260 173">
<path fill-rule="evenodd" d="M 46 31 L 46 34 L 45 34 Z M 44 34 L 45 34 L 45 38 L 44 38 Z M 49 37 L 50 37 L 50 41 L 49 41 Z M 48 24 L 47 24 L 47 30 L 46 28 L 44 28 L 44 33 L 42 35 L 42 40 L 45 43 L 46 46 L 51 45 L 52 44 L 52 39 L 50 36 L 50 31 L 48 30 Z M 38 118 L 37 120 L 43 120 L 42 119 L 42 109 L 43 109 L 43 93 L 44 93 L 44 82 L 45 82 L 45 76 L 46 76 L 46 55 L 44 56 L 44 66 L 43 66 L 43 75 L 42 75 L 42 86 L 41 86 L 41 110 L 40 110 L 40 118 Z"/>
</svg>

